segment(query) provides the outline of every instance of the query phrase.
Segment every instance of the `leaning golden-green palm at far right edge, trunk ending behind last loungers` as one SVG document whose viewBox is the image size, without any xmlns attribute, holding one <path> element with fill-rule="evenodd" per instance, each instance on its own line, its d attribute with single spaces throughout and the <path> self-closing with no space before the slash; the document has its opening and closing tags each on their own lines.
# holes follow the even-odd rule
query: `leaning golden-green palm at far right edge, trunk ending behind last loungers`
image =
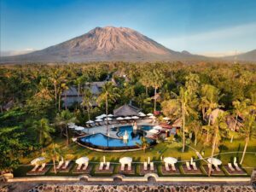
<svg viewBox="0 0 256 192">
<path fill-rule="evenodd" d="M 243 116 L 244 125 L 240 128 L 239 132 L 242 137 L 245 137 L 245 145 L 242 152 L 240 164 L 244 160 L 244 156 L 247 151 L 247 144 L 249 143 L 250 138 L 256 137 L 256 114 L 253 113 L 253 111 L 251 111 L 250 108 L 248 108 L 247 111 L 243 113 Z"/>
</svg>

